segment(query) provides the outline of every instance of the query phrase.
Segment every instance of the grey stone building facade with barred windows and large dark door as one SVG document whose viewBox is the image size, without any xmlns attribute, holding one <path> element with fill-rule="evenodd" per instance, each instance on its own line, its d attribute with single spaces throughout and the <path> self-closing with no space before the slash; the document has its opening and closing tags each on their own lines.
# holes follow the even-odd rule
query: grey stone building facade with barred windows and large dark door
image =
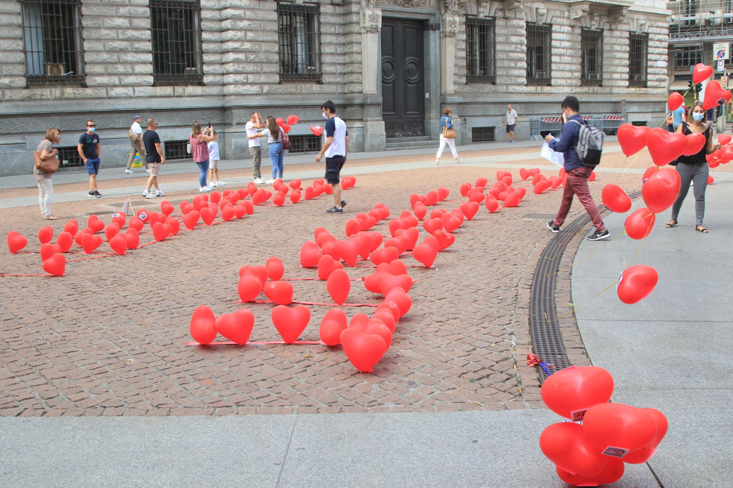
<svg viewBox="0 0 733 488">
<path fill-rule="evenodd" d="M 293 152 L 312 151 L 325 100 L 353 151 L 430 144 L 446 107 L 458 143 L 506 140 L 507 102 L 526 139 L 527 117 L 566 94 L 658 123 L 666 14 L 656 0 L 0 0 L 0 175 L 29 173 L 48 127 L 71 148 L 87 119 L 102 167 L 122 166 L 133 115 L 158 119 L 169 159 L 194 119 L 223 159 L 248 159 L 254 110 L 298 116 Z"/>
</svg>

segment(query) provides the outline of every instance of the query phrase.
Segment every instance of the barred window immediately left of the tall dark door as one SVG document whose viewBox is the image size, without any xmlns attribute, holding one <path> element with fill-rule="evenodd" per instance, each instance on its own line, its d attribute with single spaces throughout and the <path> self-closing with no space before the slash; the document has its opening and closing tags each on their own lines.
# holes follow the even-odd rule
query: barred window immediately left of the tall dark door
<svg viewBox="0 0 733 488">
<path fill-rule="evenodd" d="M 277 4 L 280 81 L 321 83 L 317 5 Z"/>
</svg>

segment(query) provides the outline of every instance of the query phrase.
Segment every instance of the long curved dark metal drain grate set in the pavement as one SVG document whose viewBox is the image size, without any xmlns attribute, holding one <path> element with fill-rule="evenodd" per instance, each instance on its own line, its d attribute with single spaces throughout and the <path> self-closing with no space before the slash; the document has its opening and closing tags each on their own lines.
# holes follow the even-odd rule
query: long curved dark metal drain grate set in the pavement
<svg viewBox="0 0 733 488">
<path fill-rule="evenodd" d="M 640 195 L 641 192 L 635 192 L 629 197 L 633 199 Z M 605 206 L 598 206 L 598 211 L 601 214 L 605 210 Z M 554 215 L 550 215 L 550 217 L 554 217 Z M 534 217 L 525 216 L 522 218 Z M 529 297 L 529 333 L 532 338 L 532 350 L 542 361 L 554 364 L 556 371 L 570 366 L 562 342 L 562 335 L 560 334 L 560 324 L 557 320 L 555 304 L 557 271 L 565 247 L 585 228 L 588 222 L 590 222 L 590 216 L 583 214 L 583 217 L 578 217 L 570 225 L 565 225 L 565 228 L 542 251 L 532 278 L 532 289 Z M 539 372 L 540 383 L 548 378 L 547 373 L 542 368 L 537 367 L 537 372 Z"/>
</svg>

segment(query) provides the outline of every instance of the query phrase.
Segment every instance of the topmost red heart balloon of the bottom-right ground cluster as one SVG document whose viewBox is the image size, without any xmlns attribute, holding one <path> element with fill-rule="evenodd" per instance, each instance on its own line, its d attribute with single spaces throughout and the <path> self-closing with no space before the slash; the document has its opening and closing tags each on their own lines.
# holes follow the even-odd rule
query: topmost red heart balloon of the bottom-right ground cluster
<svg viewBox="0 0 733 488">
<path fill-rule="evenodd" d="M 542 383 L 542 401 L 553 412 L 572 421 L 597 403 L 608 402 L 614 393 L 611 373 L 597 366 L 569 367 L 553 373 Z"/>
</svg>

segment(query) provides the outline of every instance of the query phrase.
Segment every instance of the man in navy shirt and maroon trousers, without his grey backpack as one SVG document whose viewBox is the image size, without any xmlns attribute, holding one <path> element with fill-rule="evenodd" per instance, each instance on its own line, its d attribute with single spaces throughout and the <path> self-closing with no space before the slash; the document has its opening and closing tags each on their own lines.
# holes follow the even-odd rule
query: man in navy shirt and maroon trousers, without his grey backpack
<svg viewBox="0 0 733 488">
<path fill-rule="evenodd" d="M 552 135 L 545 136 L 545 140 L 553 151 L 561 152 L 564 157 L 564 168 L 567 172 L 567 181 L 562 192 L 562 203 L 557 212 L 557 217 L 548 222 L 548 229 L 556 234 L 560 232 L 560 227 L 565 222 L 567 212 L 572 206 L 572 195 L 578 195 L 588 214 L 591 216 L 593 225 L 596 230 L 588 239 L 591 241 L 601 241 L 611 236 L 603 225 L 603 219 L 600 218 L 600 212 L 591 197 L 588 188 L 588 178 L 591 176 L 592 168 L 587 168 L 575 152 L 575 146 L 578 146 L 578 133 L 580 132 L 580 124 L 586 125 L 586 121 L 578 113 L 581 110 L 581 103 L 575 97 L 565 97 L 562 101 L 562 119 L 565 124 L 562 126 L 560 138 L 554 138 Z"/>
</svg>

